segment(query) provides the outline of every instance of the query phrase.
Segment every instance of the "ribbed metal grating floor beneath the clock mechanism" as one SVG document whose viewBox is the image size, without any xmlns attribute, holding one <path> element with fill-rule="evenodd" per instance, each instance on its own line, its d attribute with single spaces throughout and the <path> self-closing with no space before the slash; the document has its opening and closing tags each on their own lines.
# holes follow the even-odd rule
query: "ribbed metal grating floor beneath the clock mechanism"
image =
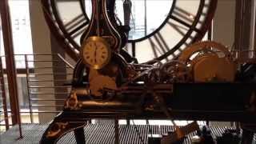
<svg viewBox="0 0 256 144">
<path fill-rule="evenodd" d="M 47 125 L 39 124 L 24 124 L 22 125 L 23 138 L 18 138 L 18 126 L 12 127 L 10 130 L 6 131 L 4 134 L 0 135 L 0 144 L 35 144 L 38 143 L 42 133 L 46 130 Z M 214 137 L 219 136 L 227 127 L 211 127 L 212 134 Z M 149 129 L 152 130 L 153 134 L 165 134 L 167 131 L 173 129 L 171 126 L 126 126 L 120 125 L 120 143 L 125 144 L 137 144 L 137 143 L 147 143 L 147 134 Z M 109 144 L 114 143 L 114 125 L 112 124 L 90 124 L 85 126 L 86 133 L 86 143 L 91 144 Z M 138 133 L 141 139 L 138 136 Z M 186 142 L 191 143 L 190 138 L 194 135 L 188 135 Z M 73 144 L 74 134 L 66 134 L 63 138 L 58 141 L 58 144 Z M 255 144 L 255 143 L 254 143 Z"/>
</svg>

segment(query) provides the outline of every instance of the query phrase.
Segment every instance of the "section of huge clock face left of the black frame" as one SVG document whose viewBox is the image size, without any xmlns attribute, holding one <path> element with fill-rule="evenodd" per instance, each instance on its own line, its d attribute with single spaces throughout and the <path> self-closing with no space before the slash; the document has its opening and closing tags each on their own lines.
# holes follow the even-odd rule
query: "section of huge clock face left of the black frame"
<svg viewBox="0 0 256 144">
<path fill-rule="evenodd" d="M 50 31 L 74 60 L 80 58 L 80 38 L 90 23 L 84 5 L 84 0 L 42 0 Z"/>
</svg>

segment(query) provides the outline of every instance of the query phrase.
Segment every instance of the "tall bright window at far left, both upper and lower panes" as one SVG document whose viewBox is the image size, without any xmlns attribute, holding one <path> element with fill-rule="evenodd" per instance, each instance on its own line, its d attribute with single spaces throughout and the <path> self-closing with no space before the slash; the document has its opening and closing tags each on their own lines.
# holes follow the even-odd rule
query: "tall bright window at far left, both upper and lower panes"
<svg viewBox="0 0 256 144">
<path fill-rule="evenodd" d="M 17 69 L 25 69 L 25 56 L 24 54 L 33 54 L 32 38 L 31 38 L 31 28 L 30 28 L 30 7 L 29 0 L 9 0 L 10 7 L 10 19 L 14 43 L 14 58 L 16 62 Z M 2 58 L 2 66 L 6 68 L 5 62 L 5 50 L 3 45 L 2 37 L 2 21 L 0 20 L 0 58 Z M 34 60 L 33 56 L 28 57 L 29 61 Z M 29 62 L 29 67 L 33 67 L 34 63 Z M 7 107 L 10 110 L 10 99 L 8 92 L 8 83 L 5 74 L 5 87 L 6 87 L 6 98 Z M 26 86 L 26 75 L 17 75 L 18 83 L 18 98 L 21 110 L 28 109 L 28 94 Z M 1 95 L 0 95 L 0 98 Z M 1 103 L 0 103 L 1 106 Z"/>
</svg>

